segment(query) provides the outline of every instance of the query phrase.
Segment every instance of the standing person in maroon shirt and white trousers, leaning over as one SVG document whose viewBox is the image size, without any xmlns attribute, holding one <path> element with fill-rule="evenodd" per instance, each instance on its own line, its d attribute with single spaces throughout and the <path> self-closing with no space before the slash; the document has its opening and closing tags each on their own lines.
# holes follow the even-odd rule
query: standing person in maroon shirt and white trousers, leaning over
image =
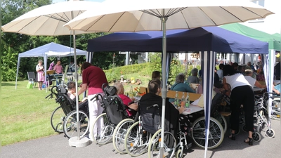
<svg viewBox="0 0 281 158">
<path fill-rule="evenodd" d="M 81 93 L 84 93 L 86 89 L 88 88 L 88 102 L 89 102 L 89 122 L 90 126 L 93 126 L 93 123 L 103 112 L 103 107 L 100 106 L 99 100 L 91 100 L 92 98 L 95 98 L 98 94 L 103 95 L 103 84 L 107 84 L 107 79 L 105 76 L 105 72 L 103 72 L 100 67 L 96 67 L 91 65 L 89 62 L 84 62 L 81 65 L 81 72 L 82 72 L 82 84 L 81 88 L 78 91 L 78 96 Z M 100 119 L 100 122 L 97 122 L 97 129 L 103 128 L 103 119 Z M 97 131 L 97 129 L 93 129 L 93 131 L 90 131 L 89 138 L 90 140 L 93 140 L 92 136 L 97 136 L 100 131 Z M 93 132 L 93 133 L 92 133 Z"/>
</svg>

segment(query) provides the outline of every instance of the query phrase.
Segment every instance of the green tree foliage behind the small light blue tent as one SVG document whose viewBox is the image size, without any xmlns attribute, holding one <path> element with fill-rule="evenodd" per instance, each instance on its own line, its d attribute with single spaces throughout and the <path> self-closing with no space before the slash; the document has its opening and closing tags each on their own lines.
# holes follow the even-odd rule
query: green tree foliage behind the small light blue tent
<svg viewBox="0 0 281 158">
<path fill-rule="evenodd" d="M 1 20 L 2 25 L 11 22 L 15 18 L 18 18 L 20 15 L 31 11 L 34 8 L 51 4 L 51 0 L 2 0 L 1 7 Z M 106 33 L 98 32 L 94 34 L 79 34 L 76 36 L 76 48 L 81 50 L 86 50 L 88 45 L 88 40 L 96 37 L 105 35 Z M 48 44 L 50 42 L 55 42 L 57 44 L 63 44 L 65 46 L 73 47 L 73 37 L 68 36 L 59 36 L 59 37 L 45 37 L 45 36 L 28 36 L 25 34 L 1 32 L 2 42 L 2 58 L 1 66 L 3 75 L 2 81 L 14 81 L 15 72 L 17 69 L 18 54 L 28 51 L 32 48 L 37 48 Z M 115 53 L 115 61 L 113 63 L 113 54 Z M 119 55 L 118 52 L 100 52 L 93 54 L 93 65 L 101 67 L 103 69 L 109 69 L 114 66 L 124 65 L 124 55 Z M 137 58 L 133 56 L 133 58 Z M 19 77 L 27 78 L 27 73 L 30 71 L 35 71 L 35 65 L 39 59 L 42 58 L 21 58 L 20 59 L 20 69 Z M 56 58 L 48 58 L 49 65 Z M 73 57 L 60 58 L 63 65 L 68 65 L 71 61 L 74 61 Z M 82 63 L 86 61 L 85 56 L 77 56 L 77 63 Z M 46 67 L 48 68 L 48 67 Z"/>
</svg>

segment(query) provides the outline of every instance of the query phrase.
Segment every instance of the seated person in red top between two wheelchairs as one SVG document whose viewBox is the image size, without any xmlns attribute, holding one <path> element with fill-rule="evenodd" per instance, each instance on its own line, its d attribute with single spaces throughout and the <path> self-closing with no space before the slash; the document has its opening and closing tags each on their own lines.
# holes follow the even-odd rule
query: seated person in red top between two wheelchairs
<svg viewBox="0 0 281 158">
<path fill-rule="evenodd" d="M 124 86 L 120 82 L 116 82 L 114 85 L 117 89 L 117 95 L 121 98 L 123 101 L 123 104 L 130 107 L 130 109 L 138 111 L 138 103 L 133 103 L 133 100 L 135 98 L 129 98 L 128 96 L 124 95 Z M 132 111 L 126 110 L 126 112 L 129 114 L 129 116 L 133 115 Z"/>
</svg>

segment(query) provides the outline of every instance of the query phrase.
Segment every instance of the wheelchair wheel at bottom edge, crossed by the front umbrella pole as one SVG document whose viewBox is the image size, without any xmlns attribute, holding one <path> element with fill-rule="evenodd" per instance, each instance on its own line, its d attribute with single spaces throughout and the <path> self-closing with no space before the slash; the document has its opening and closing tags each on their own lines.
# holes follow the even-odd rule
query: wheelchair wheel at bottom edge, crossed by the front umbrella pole
<svg viewBox="0 0 281 158">
<path fill-rule="evenodd" d="M 148 157 L 159 157 L 160 156 L 160 142 L 161 142 L 161 129 L 159 129 L 151 138 L 148 145 Z M 169 145 L 168 145 L 169 143 Z M 176 151 L 176 139 L 170 132 L 164 132 L 164 154 L 163 157 L 173 157 Z"/>
</svg>

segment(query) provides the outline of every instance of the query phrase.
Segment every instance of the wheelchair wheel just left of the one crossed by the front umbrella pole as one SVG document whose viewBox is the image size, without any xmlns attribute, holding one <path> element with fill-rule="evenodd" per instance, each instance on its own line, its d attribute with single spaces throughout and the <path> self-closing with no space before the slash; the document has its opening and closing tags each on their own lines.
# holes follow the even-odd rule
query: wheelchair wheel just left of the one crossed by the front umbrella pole
<svg viewBox="0 0 281 158">
<path fill-rule="evenodd" d="M 135 122 L 128 129 L 125 136 L 125 149 L 132 157 L 138 157 L 139 155 L 147 152 L 149 133 L 143 131 L 139 126 L 139 121 Z"/>
</svg>

